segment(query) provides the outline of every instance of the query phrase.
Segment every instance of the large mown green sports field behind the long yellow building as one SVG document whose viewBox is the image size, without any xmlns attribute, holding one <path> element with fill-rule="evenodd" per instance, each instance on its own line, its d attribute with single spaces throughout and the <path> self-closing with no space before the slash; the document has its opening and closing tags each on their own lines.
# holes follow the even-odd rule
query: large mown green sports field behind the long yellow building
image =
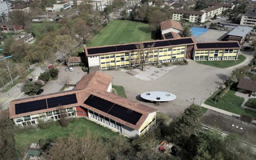
<svg viewBox="0 0 256 160">
<path fill-rule="evenodd" d="M 157 31 L 142 23 L 131 20 L 111 20 L 98 34 L 86 44 L 87 47 L 104 46 L 111 44 L 152 41 Z"/>
</svg>

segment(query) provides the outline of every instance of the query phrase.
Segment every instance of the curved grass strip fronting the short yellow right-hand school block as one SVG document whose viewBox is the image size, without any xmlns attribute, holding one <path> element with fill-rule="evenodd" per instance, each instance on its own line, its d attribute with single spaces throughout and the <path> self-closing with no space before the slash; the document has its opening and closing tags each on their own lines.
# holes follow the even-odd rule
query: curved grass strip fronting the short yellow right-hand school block
<svg viewBox="0 0 256 160">
<path fill-rule="evenodd" d="M 227 68 L 227 67 L 234 66 L 236 64 L 240 64 L 245 59 L 246 58 L 240 54 L 238 56 L 238 60 L 196 61 L 196 62 L 199 64 L 209 65 L 209 66 L 218 67 L 218 68 Z"/>
</svg>

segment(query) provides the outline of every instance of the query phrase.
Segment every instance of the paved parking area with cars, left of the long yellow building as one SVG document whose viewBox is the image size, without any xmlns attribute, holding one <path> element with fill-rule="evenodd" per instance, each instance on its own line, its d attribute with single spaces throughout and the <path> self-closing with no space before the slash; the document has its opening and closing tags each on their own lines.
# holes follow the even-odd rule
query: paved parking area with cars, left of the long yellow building
<svg viewBox="0 0 256 160">
<path fill-rule="evenodd" d="M 61 90 L 61 88 L 64 86 L 64 79 L 68 77 L 69 83 L 76 84 L 80 79 L 86 75 L 86 72 L 83 72 L 81 67 L 74 67 L 73 71 L 65 71 L 66 66 L 59 66 L 59 74 L 58 79 L 49 81 L 44 87 L 44 93 L 54 93 Z"/>
</svg>

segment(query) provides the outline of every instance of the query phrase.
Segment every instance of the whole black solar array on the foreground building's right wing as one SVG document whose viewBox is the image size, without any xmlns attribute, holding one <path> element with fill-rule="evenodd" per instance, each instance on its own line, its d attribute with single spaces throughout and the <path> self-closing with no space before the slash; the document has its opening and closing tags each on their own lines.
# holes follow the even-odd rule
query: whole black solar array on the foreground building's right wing
<svg viewBox="0 0 256 160">
<path fill-rule="evenodd" d="M 122 107 L 113 102 L 109 102 L 105 99 L 99 98 L 94 95 L 90 95 L 85 101 L 85 105 L 93 107 L 102 112 L 108 113 L 116 118 L 122 119 L 125 122 L 129 122 L 133 125 L 139 121 L 142 113 L 133 111 L 131 109 Z"/>
</svg>

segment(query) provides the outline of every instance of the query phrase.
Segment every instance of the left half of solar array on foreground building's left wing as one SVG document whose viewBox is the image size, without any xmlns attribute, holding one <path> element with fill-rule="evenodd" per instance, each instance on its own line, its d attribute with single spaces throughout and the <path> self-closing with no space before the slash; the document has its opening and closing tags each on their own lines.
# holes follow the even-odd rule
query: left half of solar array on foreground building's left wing
<svg viewBox="0 0 256 160">
<path fill-rule="evenodd" d="M 47 109 L 46 99 L 15 104 L 15 114 Z"/>
</svg>

